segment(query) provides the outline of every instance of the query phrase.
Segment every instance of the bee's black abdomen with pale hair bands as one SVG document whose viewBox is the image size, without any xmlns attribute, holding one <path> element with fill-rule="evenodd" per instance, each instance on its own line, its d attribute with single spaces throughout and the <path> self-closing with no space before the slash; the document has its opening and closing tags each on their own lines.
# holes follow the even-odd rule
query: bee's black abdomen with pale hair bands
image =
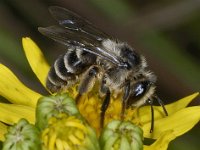
<svg viewBox="0 0 200 150">
<path fill-rule="evenodd" d="M 52 92 L 59 92 L 78 81 L 78 77 L 94 64 L 96 56 L 81 49 L 69 49 L 51 66 L 46 86 Z"/>
</svg>

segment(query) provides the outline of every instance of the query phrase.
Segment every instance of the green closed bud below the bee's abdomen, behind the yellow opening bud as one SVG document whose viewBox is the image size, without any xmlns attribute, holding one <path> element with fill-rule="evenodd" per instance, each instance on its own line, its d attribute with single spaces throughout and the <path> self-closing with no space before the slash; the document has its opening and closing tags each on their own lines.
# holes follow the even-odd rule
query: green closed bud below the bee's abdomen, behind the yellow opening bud
<svg viewBox="0 0 200 150">
<path fill-rule="evenodd" d="M 48 119 L 60 113 L 82 118 L 75 101 L 68 94 L 42 97 L 36 107 L 36 126 L 42 130 L 47 126 Z"/>
</svg>

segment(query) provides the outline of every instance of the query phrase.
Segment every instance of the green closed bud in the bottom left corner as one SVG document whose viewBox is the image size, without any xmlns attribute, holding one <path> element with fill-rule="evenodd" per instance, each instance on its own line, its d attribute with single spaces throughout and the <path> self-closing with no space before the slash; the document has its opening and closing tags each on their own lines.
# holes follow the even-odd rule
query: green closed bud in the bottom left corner
<svg viewBox="0 0 200 150">
<path fill-rule="evenodd" d="M 10 126 L 5 135 L 2 150 L 40 150 L 40 133 L 38 129 L 21 119 L 17 124 Z"/>
</svg>

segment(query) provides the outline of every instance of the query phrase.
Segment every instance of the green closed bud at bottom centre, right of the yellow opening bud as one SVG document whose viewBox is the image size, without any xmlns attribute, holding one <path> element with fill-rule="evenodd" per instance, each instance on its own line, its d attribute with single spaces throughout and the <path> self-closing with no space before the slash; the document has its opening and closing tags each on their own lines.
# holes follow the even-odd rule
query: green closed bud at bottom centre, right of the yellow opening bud
<svg viewBox="0 0 200 150">
<path fill-rule="evenodd" d="M 143 131 L 132 122 L 114 120 L 100 135 L 102 150 L 142 150 Z"/>
</svg>

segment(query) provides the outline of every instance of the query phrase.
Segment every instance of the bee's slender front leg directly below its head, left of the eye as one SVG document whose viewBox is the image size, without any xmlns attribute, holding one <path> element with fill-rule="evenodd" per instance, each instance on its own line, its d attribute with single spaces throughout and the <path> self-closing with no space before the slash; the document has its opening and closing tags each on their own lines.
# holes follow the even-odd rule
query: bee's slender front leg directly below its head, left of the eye
<svg viewBox="0 0 200 150">
<path fill-rule="evenodd" d="M 130 82 L 126 82 L 125 86 L 124 86 L 124 95 L 123 95 L 123 99 L 122 99 L 122 110 L 121 110 L 121 119 L 124 120 L 124 113 L 127 107 L 127 101 L 129 98 L 129 94 L 130 94 Z"/>
</svg>

